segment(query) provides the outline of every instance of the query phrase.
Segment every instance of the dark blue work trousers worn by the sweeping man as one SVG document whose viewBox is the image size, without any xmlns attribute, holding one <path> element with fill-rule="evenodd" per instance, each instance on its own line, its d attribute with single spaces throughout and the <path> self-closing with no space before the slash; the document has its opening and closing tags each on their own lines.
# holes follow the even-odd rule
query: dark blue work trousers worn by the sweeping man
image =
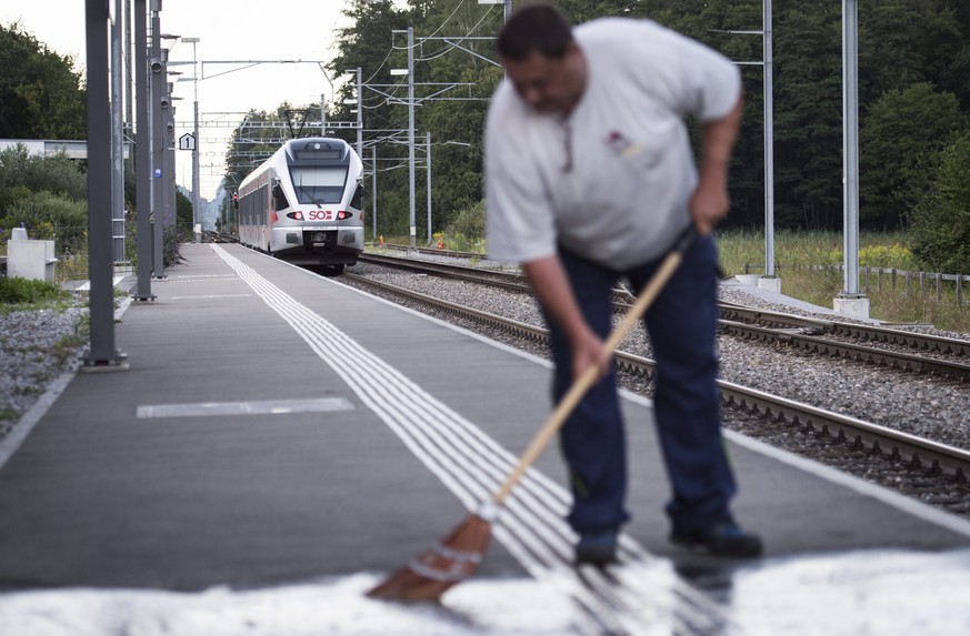
<svg viewBox="0 0 970 636">
<path fill-rule="evenodd" d="M 639 293 L 661 260 L 612 271 L 560 249 L 583 315 L 603 339 L 612 330 L 611 290 L 626 277 Z M 672 497 L 667 513 L 676 529 L 692 532 L 731 521 L 737 492 L 720 430 L 716 377 L 717 246 L 699 238 L 644 317 L 657 361 L 654 414 Z M 573 382 L 568 339 L 549 316 L 558 402 Z M 616 370 L 596 384 L 562 426 L 560 444 L 570 471 L 573 506 L 569 523 L 578 533 L 617 528 L 629 519 L 627 448 Z"/>
</svg>

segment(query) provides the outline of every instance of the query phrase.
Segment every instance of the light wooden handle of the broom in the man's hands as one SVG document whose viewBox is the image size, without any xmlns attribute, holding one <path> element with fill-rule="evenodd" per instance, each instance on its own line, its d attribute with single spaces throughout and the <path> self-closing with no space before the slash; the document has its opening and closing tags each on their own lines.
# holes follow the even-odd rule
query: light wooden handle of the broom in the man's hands
<svg viewBox="0 0 970 636">
<path fill-rule="evenodd" d="M 688 228 L 686 232 L 683 232 L 680 238 L 678 238 L 677 245 L 674 249 L 663 259 L 663 262 L 660 264 L 660 269 L 657 270 L 657 273 L 653 274 L 653 277 L 647 283 L 647 286 L 640 292 L 640 295 L 637 297 L 637 302 L 633 304 L 633 307 L 627 312 L 627 315 L 623 317 L 622 322 L 617 325 L 617 329 L 610 334 L 610 337 L 603 344 L 603 347 L 607 351 L 614 352 L 620 343 L 627 337 L 627 334 L 630 333 L 630 330 L 633 329 L 633 325 L 643 316 L 647 312 L 647 309 L 657 299 L 657 295 L 660 293 L 660 290 L 667 284 L 670 280 L 670 276 L 673 275 L 673 272 L 677 271 L 677 267 L 680 266 L 681 261 L 683 261 L 683 254 L 687 252 L 687 249 L 690 248 L 693 240 L 697 238 L 697 233 L 693 229 L 693 225 Z M 512 488 L 516 487 L 516 484 L 519 483 L 519 479 L 522 478 L 522 475 L 526 474 L 526 471 L 531 466 L 539 455 L 542 454 L 542 451 L 546 448 L 549 441 L 552 436 L 559 431 L 559 427 L 562 426 L 563 422 L 566 422 L 567 417 L 572 413 L 573 408 L 576 408 L 579 401 L 582 400 L 582 396 L 586 395 L 586 392 L 590 390 L 590 387 L 596 384 L 599 378 L 600 370 L 594 365 L 590 365 L 576 382 L 572 383 L 572 386 L 569 387 L 569 391 L 566 395 L 562 396 L 562 400 L 559 401 L 559 404 L 552 411 L 552 414 L 546 421 L 546 424 L 542 425 L 542 428 L 536 434 L 532 441 L 529 443 L 529 446 L 526 448 L 526 452 L 522 453 L 522 456 L 519 458 L 519 464 L 516 466 L 516 470 L 511 475 L 506 479 L 506 483 L 502 484 L 501 489 L 496 493 L 493 498 L 494 505 L 501 506 L 509 494 L 512 492 Z"/>
</svg>

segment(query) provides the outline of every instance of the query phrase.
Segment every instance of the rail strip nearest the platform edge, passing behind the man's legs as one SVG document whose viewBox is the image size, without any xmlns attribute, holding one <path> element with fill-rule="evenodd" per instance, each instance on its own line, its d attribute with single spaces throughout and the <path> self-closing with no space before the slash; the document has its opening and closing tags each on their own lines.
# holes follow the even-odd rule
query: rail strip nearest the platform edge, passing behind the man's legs
<svg viewBox="0 0 970 636">
<path fill-rule="evenodd" d="M 544 342 L 547 337 L 547 331 L 543 327 L 442 301 L 424 293 L 367 276 L 344 274 L 344 277 L 353 283 L 380 290 L 409 302 L 433 306 L 436 310 L 498 330 L 516 339 Z M 653 362 L 649 359 L 619 352 L 617 361 L 621 373 L 628 376 L 640 378 L 652 376 Z M 719 381 L 719 388 L 723 403 L 732 408 L 770 417 L 789 426 L 798 427 L 802 432 L 813 432 L 844 440 L 857 446 L 862 445 L 870 452 L 904 460 L 914 467 L 919 466 L 923 470 L 942 472 L 961 478 L 970 476 L 970 452 L 966 450 L 726 381 Z"/>
</svg>

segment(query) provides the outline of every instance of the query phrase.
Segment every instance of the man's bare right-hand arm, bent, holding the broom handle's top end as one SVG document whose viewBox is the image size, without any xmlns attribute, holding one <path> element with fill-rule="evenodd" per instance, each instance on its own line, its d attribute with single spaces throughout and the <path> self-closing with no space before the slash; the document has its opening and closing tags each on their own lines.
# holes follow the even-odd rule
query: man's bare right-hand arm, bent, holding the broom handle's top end
<svg viewBox="0 0 970 636">
<path fill-rule="evenodd" d="M 741 127 L 741 94 L 734 108 L 720 119 L 702 127 L 703 145 L 698 184 L 690 199 L 690 214 L 701 235 L 710 234 L 730 209 L 728 166 L 738 129 Z"/>
</svg>

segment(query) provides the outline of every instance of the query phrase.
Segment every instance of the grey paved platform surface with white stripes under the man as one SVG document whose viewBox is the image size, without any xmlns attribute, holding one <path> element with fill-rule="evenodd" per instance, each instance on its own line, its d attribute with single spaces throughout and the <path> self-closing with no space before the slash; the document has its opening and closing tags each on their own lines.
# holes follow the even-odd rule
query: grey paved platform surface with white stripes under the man
<svg viewBox="0 0 970 636">
<path fill-rule="evenodd" d="M 443 620 L 442 634 L 573 625 L 554 610 L 537 619 L 509 607 L 562 602 L 543 578 L 568 565 L 572 541 L 554 447 L 507 506 L 479 581 L 447 596 L 444 610 L 388 617 L 359 598 L 493 492 L 549 414 L 544 362 L 238 245 L 191 244 L 183 254 L 184 264 L 152 281 L 157 299 L 131 303 L 116 324 L 129 370 L 67 377 L 26 418 L 22 443 L 7 448 L 0 633 L 4 619 L 29 626 L 37 613 L 87 615 L 92 604 L 98 616 L 142 604 L 170 617 L 197 604 L 231 626 L 260 602 L 298 604 L 308 590 L 319 606 L 336 603 L 333 634 L 357 633 L 363 614 L 418 620 L 413 632 L 389 634 L 430 633 L 421 620 Z M 683 553 L 667 543 L 668 484 L 650 404 L 628 396 L 624 411 L 633 514 L 624 558 L 661 567 L 668 582 L 644 577 L 638 589 L 690 584 L 729 614 L 760 612 L 760 622 L 741 620 L 757 633 L 784 627 L 768 617 L 797 616 L 794 605 L 808 608 L 813 597 L 832 603 L 832 581 L 852 582 L 862 590 L 849 589 L 857 600 L 841 624 L 850 629 L 868 597 L 897 609 L 900 598 L 906 607 L 918 600 L 928 616 L 947 616 L 947 628 L 970 633 L 968 604 L 951 606 L 943 592 L 970 583 L 970 524 L 728 434 L 741 485 L 734 511 L 762 534 L 767 554 L 724 563 Z M 930 594 L 937 579 L 946 583 Z M 902 594 L 907 581 L 927 594 Z M 867 587 L 873 582 L 892 590 Z M 207 605 L 213 588 L 228 595 L 218 610 Z M 497 607 L 521 623 L 496 625 Z M 336 618 L 341 608 L 346 624 Z M 184 633 L 202 633 L 187 620 Z M 838 620 L 806 620 L 827 630 L 800 633 L 842 633 Z M 328 633 L 318 627 L 307 633 Z"/>
</svg>

